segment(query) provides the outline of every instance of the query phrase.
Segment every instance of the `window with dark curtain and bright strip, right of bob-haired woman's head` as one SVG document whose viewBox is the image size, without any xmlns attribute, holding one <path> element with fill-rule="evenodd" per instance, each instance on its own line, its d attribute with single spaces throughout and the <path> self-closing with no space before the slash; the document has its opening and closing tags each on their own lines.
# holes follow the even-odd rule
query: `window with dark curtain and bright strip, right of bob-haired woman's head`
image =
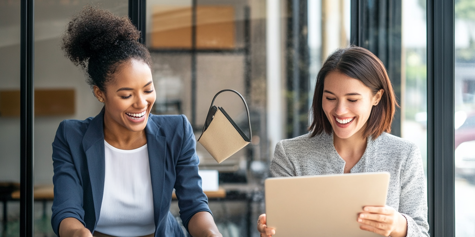
<svg viewBox="0 0 475 237">
<path fill-rule="evenodd" d="M 419 147 L 427 177 L 426 2 L 365 0 L 358 4 L 359 29 L 354 40 L 380 58 L 400 106 L 391 134 Z"/>
</svg>

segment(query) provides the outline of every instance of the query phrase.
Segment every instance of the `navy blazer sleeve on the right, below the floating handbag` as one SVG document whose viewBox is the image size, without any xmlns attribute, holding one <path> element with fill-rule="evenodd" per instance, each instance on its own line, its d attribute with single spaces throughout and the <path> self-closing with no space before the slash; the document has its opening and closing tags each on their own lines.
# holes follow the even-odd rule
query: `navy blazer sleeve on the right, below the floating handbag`
<svg viewBox="0 0 475 237">
<path fill-rule="evenodd" d="M 194 214 L 208 211 L 208 197 L 201 189 L 201 177 L 198 174 L 199 158 L 196 154 L 196 139 L 188 119 L 183 119 L 183 140 L 176 164 L 175 194 L 180 207 L 180 218 L 188 231 L 188 223 Z M 212 213 L 211 213 L 212 214 Z"/>
</svg>

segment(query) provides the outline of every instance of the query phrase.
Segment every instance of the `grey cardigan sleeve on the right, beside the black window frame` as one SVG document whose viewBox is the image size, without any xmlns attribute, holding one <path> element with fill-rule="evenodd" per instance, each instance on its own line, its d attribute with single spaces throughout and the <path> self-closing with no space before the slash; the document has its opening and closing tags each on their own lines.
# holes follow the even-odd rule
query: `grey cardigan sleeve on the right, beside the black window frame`
<svg viewBox="0 0 475 237">
<path fill-rule="evenodd" d="M 401 171 L 399 213 L 408 221 L 407 237 L 429 237 L 425 176 L 419 148 L 414 145 Z"/>
</svg>

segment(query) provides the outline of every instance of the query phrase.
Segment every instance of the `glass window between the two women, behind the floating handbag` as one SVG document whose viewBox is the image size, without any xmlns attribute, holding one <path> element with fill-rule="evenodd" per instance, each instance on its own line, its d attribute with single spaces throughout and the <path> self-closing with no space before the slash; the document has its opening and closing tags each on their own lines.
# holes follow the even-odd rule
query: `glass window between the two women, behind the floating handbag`
<svg viewBox="0 0 475 237">
<path fill-rule="evenodd" d="M 255 222 L 265 211 L 263 181 L 274 147 L 307 133 L 322 60 L 349 44 L 350 0 L 147 0 L 146 5 L 154 113 L 185 114 L 199 138 L 218 91 L 236 90 L 247 101 L 252 143 L 221 164 L 199 143 L 197 153 L 199 169 L 218 170 L 219 188 L 226 192 L 209 201 L 223 236 L 259 236 Z M 246 111 L 236 95 L 223 93 L 215 104 L 247 133 Z M 176 202 L 171 211 L 178 217 Z"/>
</svg>

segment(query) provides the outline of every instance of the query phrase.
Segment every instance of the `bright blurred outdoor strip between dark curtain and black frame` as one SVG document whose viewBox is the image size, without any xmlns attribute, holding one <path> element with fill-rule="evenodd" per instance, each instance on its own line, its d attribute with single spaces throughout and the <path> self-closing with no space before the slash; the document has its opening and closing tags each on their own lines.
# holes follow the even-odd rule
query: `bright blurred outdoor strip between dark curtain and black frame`
<svg viewBox="0 0 475 237">
<path fill-rule="evenodd" d="M 401 137 L 415 143 L 427 177 L 426 4 L 402 1 Z"/>
</svg>

